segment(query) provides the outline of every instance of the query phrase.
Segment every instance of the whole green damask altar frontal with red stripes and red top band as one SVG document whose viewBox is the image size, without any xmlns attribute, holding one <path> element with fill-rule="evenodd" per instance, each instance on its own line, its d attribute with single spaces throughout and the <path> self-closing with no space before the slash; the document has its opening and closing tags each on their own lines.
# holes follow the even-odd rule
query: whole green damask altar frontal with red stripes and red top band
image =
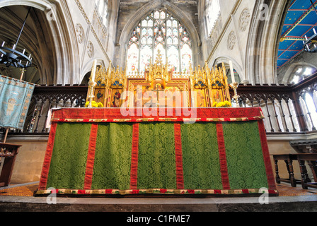
<svg viewBox="0 0 317 226">
<path fill-rule="evenodd" d="M 260 108 L 179 110 L 54 110 L 36 195 L 278 195 Z"/>
</svg>

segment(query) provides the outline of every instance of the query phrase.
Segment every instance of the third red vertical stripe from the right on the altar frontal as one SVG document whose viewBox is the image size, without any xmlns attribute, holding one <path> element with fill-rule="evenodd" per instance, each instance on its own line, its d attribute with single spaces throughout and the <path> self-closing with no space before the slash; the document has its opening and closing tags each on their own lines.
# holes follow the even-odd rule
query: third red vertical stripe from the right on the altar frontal
<svg viewBox="0 0 317 226">
<path fill-rule="evenodd" d="M 177 189 L 184 189 L 184 170 L 183 170 L 183 148 L 181 126 L 174 124 L 175 134 L 175 157 L 176 157 L 176 185 Z"/>
</svg>

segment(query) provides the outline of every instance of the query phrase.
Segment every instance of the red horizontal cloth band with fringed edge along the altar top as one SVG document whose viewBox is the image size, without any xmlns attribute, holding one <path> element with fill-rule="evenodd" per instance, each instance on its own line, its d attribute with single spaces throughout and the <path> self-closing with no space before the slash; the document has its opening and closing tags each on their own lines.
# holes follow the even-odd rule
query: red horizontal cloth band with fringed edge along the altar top
<svg viewBox="0 0 317 226">
<path fill-rule="evenodd" d="M 150 109 L 151 110 L 151 109 Z M 122 114 L 123 113 L 123 114 Z M 55 122 L 141 122 L 141 121 L 255 121 L 264 119 L 260 108 L 154 109 L 65 108 L 52 114 Z"/>
</svg>

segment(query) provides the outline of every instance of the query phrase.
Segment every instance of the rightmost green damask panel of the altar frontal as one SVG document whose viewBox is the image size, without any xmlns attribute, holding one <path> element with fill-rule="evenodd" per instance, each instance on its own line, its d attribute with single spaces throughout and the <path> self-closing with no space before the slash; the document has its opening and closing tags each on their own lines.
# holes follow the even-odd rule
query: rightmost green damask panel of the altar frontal
<svg viewBox="0 0 317 226">
<path fill-rule="evenodd" d="M 258 123 L 239 122 L 223 127 L 231 189 L 267 188 Z"/>
</svg>

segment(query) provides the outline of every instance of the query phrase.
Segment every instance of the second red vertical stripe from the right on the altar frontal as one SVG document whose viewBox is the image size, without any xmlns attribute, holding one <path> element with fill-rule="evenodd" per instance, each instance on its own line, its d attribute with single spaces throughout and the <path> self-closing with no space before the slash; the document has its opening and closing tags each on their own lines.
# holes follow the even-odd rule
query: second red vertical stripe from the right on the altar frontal
<svg viewBox="0 0 317 226">
<path fill-rule="evenodd" d="M 226 161 L 226 146 L 224 144 L 224 128 L 222 127 L 221 123 L 217 123 L 217 138 L 222 186 L 224 190 L 230 190 L 228 164 Z"/>
</svg>

